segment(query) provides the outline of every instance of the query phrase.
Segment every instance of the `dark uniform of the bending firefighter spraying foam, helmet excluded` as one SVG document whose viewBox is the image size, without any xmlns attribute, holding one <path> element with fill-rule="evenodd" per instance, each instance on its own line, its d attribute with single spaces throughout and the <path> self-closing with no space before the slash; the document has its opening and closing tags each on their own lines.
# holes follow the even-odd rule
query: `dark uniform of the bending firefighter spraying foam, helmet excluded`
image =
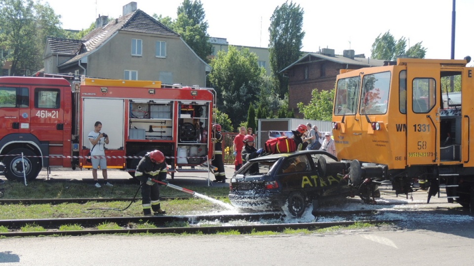
<svg viewBox="0 0 474 266">
<path fill-rule="evenodd" d="M 138 163 L 135 177 L 140 180 L 142 185 L 142 205 L 143 214 L 150 215 L 152 209 L 154 212 L 160 210 L 159 204 L 159 186 L 158 183 L 152 186 L 147 185 L 148 178 L 165 180 L 166 179 L 166 161 L 161 164 L 155 164 L 150 160 L 150 156 L 145 155 Z"/>
</svg>

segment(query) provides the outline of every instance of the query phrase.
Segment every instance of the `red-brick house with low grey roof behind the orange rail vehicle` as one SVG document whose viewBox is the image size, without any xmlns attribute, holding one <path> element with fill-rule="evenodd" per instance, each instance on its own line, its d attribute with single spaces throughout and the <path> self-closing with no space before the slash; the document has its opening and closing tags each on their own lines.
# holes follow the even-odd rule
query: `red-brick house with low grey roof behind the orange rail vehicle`
<svg viewBox="0 0 474 266">
<path fill-rule="evenodd" d="M 295 110 L 296 118 L 303 118 L 297 104 L 309 104 L 311 93 L 330 91 L 336 83 L 340 69 L 358 69 L 369 66 L 383 66 L 383 60 L 355 55 L 354 50 L 344 50 L 343 55 L 335 55 L 334 49 L 321 49 L 318 53 L 307 53 L 293 64 L 280 71 L 289 79 L 288 106 Z"/>
</svg>

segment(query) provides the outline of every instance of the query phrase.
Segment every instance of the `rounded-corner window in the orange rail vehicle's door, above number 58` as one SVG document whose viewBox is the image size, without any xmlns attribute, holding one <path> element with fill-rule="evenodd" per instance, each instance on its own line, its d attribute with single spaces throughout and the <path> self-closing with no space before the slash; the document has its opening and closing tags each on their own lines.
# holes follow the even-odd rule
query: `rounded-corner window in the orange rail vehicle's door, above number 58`
<svg viewBox="0 0 474 266">
<path fill-rule="evenodd" d="M 428 113 L 436 100 L 436 81 L 433 78 L 413 79 L 413 102 L 414 113 Z"/>
</svg>

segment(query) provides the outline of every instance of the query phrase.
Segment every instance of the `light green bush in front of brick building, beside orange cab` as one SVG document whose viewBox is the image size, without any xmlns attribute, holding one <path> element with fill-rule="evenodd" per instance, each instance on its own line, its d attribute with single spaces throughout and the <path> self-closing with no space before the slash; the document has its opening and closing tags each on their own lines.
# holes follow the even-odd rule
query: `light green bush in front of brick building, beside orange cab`
<svg viewBox="0 0 474 266">
<path fill-rule="evenodd" d="M 318 91 L 314 89 L 311 92 L 311 101 L 309 104 L 298 103 L 300 113 L 304 114 L 305 119 L 331 121 L 334 94 L 336 90 Z"/>
</svg>

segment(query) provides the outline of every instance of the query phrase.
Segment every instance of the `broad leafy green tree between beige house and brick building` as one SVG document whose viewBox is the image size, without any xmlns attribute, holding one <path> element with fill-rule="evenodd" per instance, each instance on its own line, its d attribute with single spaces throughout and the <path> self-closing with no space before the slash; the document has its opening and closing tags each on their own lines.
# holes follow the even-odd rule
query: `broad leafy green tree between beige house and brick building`
<svg viewBox="0 0 474 266">
<path fill-rule="evenodd" d="M 246 121 L 250 102 L 255 100 L 260 84 L 260 75 L 264 71 L 257 63 L 257 55 L 248 48 L 237 50 L 229 46 L 229 51 L 219 51 L 212 60 L 209 81 L 217 92 L 217 104 L 227 113 L 234 127 Z"/>
</svg>

